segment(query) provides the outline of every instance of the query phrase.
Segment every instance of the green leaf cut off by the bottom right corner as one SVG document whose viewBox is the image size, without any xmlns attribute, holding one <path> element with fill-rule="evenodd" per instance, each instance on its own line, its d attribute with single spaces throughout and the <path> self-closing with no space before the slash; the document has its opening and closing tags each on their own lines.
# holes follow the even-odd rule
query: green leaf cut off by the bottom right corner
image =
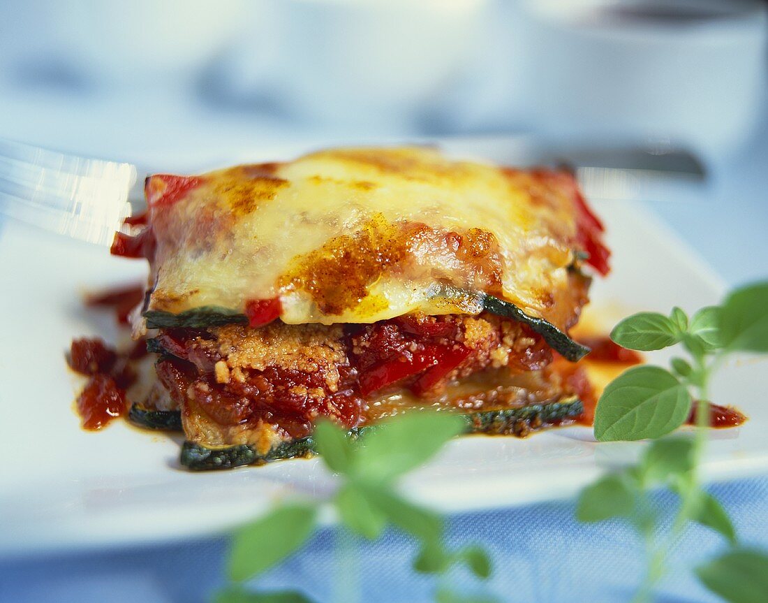
<svg viewBox="0 0 768 603">
<path fill-rule="evenodd" d="M 727 552 L 696 568 L 703 585 L 730 603 L 765 603 L 768 555 L 746 548 Z"/>
</svg>

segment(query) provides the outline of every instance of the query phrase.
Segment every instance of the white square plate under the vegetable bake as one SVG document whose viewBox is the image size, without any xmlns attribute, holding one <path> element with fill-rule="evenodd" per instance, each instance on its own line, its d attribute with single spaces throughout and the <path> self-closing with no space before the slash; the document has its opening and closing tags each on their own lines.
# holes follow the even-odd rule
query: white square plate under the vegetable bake
<svg viewBox="0 0 768 603">
<path fill-rule="evenodd" d="M 292 151 L 271 157 L 260 152 L 250 160 L 288 158 Z M 592 289 L 593 315 L 606 328 L 637 310 L 667 313 L 677 305 L 693 311 L 720 300 L 720 280 L 647 210 L 621 201 L 594 205 L 614 251 L 611 277 L 596 280 Z M 117 336 L 111 317 L 86 312 L 81 295 L 140 281 L 145 270 L 142 262 L 110 257 L 100 248 L 5 224 L 0 555 L 187 538 L 249 519 L 279 497 L 333 489 L 332 476 L 316 459 L 193 473 L 178 466 L 179 438 L 123 421 L 101 432 L 80 429 L 73 400 L 81 382 L 67 369 L 65 350 L 74 337 Z M 650 360 L 665 363 L 668 356 Z M 765 362 L 743 359 L 713 384 L 713 402 L 738 406 L 750 421 L 713 432 L 707 478 L 768 471 L 766 369 Z M 584 427 L 528 439 L 467 437 L 409 475 L 403 488 L 445 511 L 557 499 L 636 455 L 640 446 L 598 445 Z"/>
</svg>

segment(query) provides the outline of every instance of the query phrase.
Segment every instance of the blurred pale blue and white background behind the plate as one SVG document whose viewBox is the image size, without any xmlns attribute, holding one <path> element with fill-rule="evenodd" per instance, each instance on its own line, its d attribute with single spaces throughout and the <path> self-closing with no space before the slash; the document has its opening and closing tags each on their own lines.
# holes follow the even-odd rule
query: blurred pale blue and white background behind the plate
<svg viewBox="0 0 768 603">
<path fill-rule="evenodd" d="M 760 0 L 6 0 L 0 136 L 194 166 L 275 141 L 536 134 L 723 161 Z M 190 160 L 191 161 L 191 160 Z"/>
</svg>

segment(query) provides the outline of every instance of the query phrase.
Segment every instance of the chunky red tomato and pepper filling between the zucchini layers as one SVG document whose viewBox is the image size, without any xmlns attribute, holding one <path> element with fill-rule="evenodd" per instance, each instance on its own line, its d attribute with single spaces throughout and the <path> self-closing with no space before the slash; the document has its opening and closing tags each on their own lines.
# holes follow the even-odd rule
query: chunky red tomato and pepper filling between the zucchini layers
<svg viewBox="0 0 768 603">
<path fill-rule="evenodd" d="M 364 400 L 372 393 L 402 388 L 416 397 L 435 399 L 449 379 L 484 369 L 490 363 L 488 350 L 485 356 L 478 356 L 462 343 L 462 320 L 456 316 L 401 316 L 370 325 L 348 324 L 342 340 L 346 353 L 340 362 L 317 363 L 308 372 L 280 365 L 263 369 L 239 366 L 237 373 L 225 372 L 226 379 L 217 378 L 216 365 L 226 358 L 212 339 L 214 333 L 167 329 L 155 340 L 168 354 L 158 361 L 157 375 L 177 403 L 192 399 L 220 425 L 263 420 L 301 437 L 311 432 L 317 416 L 356 426 L 366 411 Z M 518 350 L 515 363 L 531 369 L 551 361 L 548 349 L 541 355 L 545 347 L 541 338 L 527 327 L 524 333 L 532 343 Z M 495 336 L 500 341 L 500 333 Z M 329 370 L 339 372 L 333 391 L 326 383 Z"/>
</svg>

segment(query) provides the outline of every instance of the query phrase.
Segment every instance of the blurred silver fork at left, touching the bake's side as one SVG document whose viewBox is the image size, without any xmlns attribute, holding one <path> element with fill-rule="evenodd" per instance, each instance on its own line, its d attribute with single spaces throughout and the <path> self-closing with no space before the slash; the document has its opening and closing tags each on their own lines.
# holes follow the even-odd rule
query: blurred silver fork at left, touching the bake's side
<svg viewBox="0 0 768 603">
<path fill-rule="evenodd" d="M 0 138 L 0 214 L 108 245 L 136 184 L 134 165 L 48 151 Z"/>
</svg>

